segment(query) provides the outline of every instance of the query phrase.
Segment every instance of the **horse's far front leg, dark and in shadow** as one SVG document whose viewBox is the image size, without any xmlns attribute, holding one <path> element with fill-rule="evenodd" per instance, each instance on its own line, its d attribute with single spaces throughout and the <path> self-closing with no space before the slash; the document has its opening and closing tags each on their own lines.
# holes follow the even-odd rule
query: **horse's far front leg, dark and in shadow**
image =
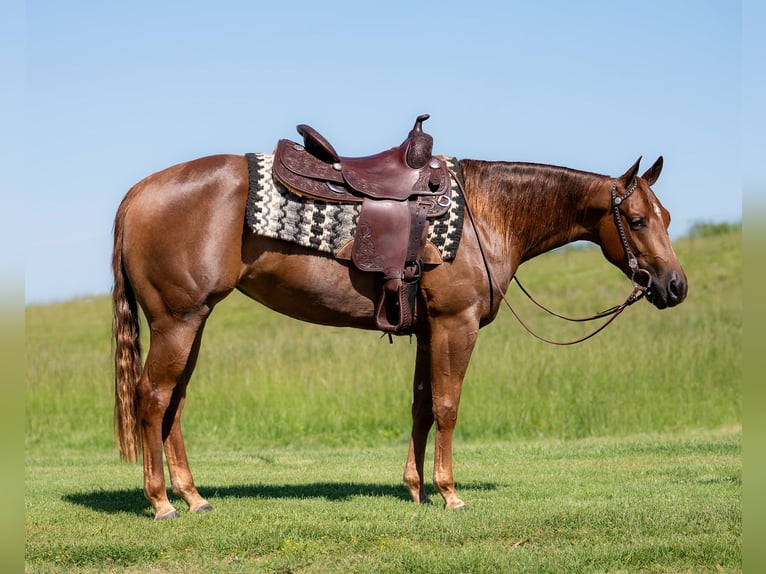
<svg viewBox="0 0 766 574">
<path fill-rule="evenodd" d="M 404 486 L 416 504 L 432 504 L 426 495 L 423 481 L 428 433 L 434 424 L 431 403 L 431 348 L 427 341 L 418 338 L 415 359 L 415 377 L 412 385 L 412 433 L 407 464 L 404 467 Z"/>
</svg>

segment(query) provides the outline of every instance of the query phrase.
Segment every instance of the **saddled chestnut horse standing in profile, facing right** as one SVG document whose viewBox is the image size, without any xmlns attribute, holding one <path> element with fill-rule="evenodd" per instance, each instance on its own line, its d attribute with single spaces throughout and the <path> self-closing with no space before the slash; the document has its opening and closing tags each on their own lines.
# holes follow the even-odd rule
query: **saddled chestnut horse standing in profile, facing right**
<svg viewBox="0 0 766 574">
<path fill-rule="evenodd" d="M 436 423 L 434 485 L 446 508 L 464 506 L 452 473 L 463 377 L 479 328 L 494 319 L 522 262 L 587 240 L 632 279 L 637 262 L 651 278 L 646 298 L 658 309 L 684 300 L 686 276 L 667 233 L 670 215 L 650 189 L 662 158 L 640 177 L 639 161 L 617 178 L 548 165 L 459 162 L 469 208 L 461 244 L 453 261 L 424 271 L 416 302 L 412 432 L 404 469 L 414 502 L 431 502 L 423 461 Z M 178 516 L 166 493 L 163 450 L 172 491 L 191 512 L 212 510 L 189 470 L 181 413 L 216 303 L 238 289 L 303 321 L 375 329 L 380 279 L 330 255 L 253 234 L 244 226 L 247 198 L 246 158 L 218 155 L 147 177 L 117 211 L 115 426 L 124 459 L 135 461 L 143 451 L 144 493 L 156 519 Z M 137 304 L 150 332 L 143 367 Z"/>
</svg>

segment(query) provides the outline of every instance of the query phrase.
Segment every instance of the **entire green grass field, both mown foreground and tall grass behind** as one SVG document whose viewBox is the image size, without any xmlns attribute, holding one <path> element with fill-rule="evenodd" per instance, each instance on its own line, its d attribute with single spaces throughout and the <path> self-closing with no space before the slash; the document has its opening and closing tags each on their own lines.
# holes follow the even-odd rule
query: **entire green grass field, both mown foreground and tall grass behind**
<svg viewBox="0 0 766 574">
<path fill-rule="evenodd" d="M 688 300 L 639 302 L 575 347 L 501 311 L 461 402 L 466 512 L 416 507 L 399 485 L 407 338 L 300 323 L 237 294 L 208 323 L 184 417 L 216 512 L 153 523 L 140 467 L 114 446 L 108 299 L 28 307 L 26 569 L 739 571 L 740 244 L 739 229 L 679 240 Z M 629 291 L 596 249 L 548 254 L 520 277 L 571 314 Z M 584 332 L 509 294 L 544 334 Z"/>
</svg>

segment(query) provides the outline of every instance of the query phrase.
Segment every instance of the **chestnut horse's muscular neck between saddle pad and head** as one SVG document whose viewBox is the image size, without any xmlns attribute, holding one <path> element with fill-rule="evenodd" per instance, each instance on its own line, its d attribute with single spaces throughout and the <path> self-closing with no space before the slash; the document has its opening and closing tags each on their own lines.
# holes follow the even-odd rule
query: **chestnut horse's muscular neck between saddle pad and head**
<svg viewBox="0 0 766 574">
<path fill-rule="evenodd" d="M 588 207 L 604 176 L 548 165 L 461 162 L 468 200 L 518 263 L 591 235 Z"/>
</svg>

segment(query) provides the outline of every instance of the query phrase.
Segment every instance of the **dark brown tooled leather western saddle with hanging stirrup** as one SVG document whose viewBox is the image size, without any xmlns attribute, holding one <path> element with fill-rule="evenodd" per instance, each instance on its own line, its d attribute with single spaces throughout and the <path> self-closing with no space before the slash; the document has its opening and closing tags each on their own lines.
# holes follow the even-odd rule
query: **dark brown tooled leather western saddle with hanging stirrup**
<svg viewBox="0 0 766 574">
<path fill-rule="evenodd" d="M 449 169 L 431 155 L 433 138 L 423 131 L 428 118 L 418 116 L 400 146 L 367 157 L 340 156 L 305 124 L 297 126 L 303 145 L 283 139 L 274 154 L 274 176 L 291 191 L 362 204 L 351 261 L 362 271 L 382 273 L 375 320 L 389 334 L 411 332 L 428 222 L 444 215 L 452 201 Z"/>
</svg>

